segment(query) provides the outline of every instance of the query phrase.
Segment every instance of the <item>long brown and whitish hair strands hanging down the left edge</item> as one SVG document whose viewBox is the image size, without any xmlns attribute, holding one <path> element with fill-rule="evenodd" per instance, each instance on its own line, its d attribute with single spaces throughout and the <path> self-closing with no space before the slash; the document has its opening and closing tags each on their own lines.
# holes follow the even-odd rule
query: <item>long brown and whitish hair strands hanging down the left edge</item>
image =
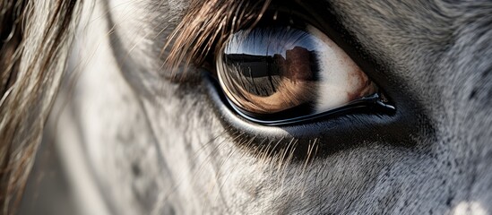
<svg viewBox="0 0 492 215">
<path fill-rule="evenodd" d="M 82 0 L 0 0 L 0 214 L 20 202 Z"/>
</svg>

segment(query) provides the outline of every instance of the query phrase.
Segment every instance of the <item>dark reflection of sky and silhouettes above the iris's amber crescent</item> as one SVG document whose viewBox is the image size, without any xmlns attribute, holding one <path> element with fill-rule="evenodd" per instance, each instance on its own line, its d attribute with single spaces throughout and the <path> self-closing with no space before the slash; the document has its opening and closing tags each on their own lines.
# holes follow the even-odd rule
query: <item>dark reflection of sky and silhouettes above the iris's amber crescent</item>
<svg viewBox="0 0 492 215">
<path fill-rule="evenodd" d="M 236 33 L 222 56 L 227 76 L 234 81 L 232 87 L 267 97 L 279 90 L 282 81 L 315 81 L 317 65 L 310 37 L 306 31 L 290 28 Z"/>
</svg>

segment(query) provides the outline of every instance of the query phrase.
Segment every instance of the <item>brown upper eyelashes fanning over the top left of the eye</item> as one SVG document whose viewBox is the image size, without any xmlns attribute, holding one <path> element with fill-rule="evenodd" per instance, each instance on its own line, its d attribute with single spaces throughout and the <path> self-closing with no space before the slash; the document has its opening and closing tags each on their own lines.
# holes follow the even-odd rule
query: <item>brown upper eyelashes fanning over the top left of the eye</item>
<svg viewBox="0 0 492 215">
<path fill-rule="evenodd" d="M 272 0 L 259 1 L 191 1 L 186 15 L 168 38 L 163 50 L 168 49 L 166 66 L 171 79 L 179 78 L 180 65 L 202 65 L 207 56 L 219 51 L 218 47 L 229 35 L 255 26 Z"/>
</svg>

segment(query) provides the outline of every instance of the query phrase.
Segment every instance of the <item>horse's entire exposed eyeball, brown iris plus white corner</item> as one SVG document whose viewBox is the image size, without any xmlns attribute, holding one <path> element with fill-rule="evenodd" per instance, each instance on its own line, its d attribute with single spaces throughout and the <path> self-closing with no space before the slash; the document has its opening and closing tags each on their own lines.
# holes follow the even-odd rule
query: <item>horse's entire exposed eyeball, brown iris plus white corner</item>
<svg viewBox="0 0 492 215">
<path fill-rule="evenodd" d="M 374 95 L 377 87 L 320 30 L 257 27 L 233 34 L 217 57 L 220 86 L 240 110 L 318 114 Z M 302 113 L 301 113 L 302 112 Z"/>
</svg>

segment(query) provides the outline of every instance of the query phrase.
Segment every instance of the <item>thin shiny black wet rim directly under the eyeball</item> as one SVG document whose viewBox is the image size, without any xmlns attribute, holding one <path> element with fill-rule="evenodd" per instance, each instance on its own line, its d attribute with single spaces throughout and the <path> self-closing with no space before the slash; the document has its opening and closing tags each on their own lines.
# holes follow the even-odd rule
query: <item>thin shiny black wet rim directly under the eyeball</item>
<svg viewBox="0 0 492 215">
<path fill-rule="evenodd" d="M 204 73 L 204 76 L 209 80 L 209 82 L 212 82 L 214 85 L 216 85 L 216 87 L 218 86 L 219 83 L 214 77 L 210 75 L 210 73 Z M 267 126 L 297 125 L 324 117 L 336 116 L 338 114 L 347 113 L 363 107 L 379 107 L 384 109 L 385 110 L 384 112 L 389 112 L 389 113 L 393 113 L 396 110 L 396 108 L 392 104 L 390 104 L 388 101 L 384 99 L 382 92 L 376 92 L 375 94 L 372 94 L 370 96 L 353 100 L 342 107 L 333 108 L 331 110 L 324 111 L 321 113 L 304 115 L 304 116 L 295 116 L 291 118 L 278 119 L 278 120 L 262 120 L 257 118 L 257 116 L 248 115 L 245 112 L 245 110 L 241 109 L 240 107 L 237 107 L 229 98 L 227 98 L 223 90 L 218 90 L 218 89 L 221 88 L 216 88 L 217 92 L 220 94 L 220 98 L 223 100 L 227 100 L 227 102 L 225 103 L 230 108 L 232 108 L 239 116 L 258 125 L 267 125 Z"/>
</svg>

